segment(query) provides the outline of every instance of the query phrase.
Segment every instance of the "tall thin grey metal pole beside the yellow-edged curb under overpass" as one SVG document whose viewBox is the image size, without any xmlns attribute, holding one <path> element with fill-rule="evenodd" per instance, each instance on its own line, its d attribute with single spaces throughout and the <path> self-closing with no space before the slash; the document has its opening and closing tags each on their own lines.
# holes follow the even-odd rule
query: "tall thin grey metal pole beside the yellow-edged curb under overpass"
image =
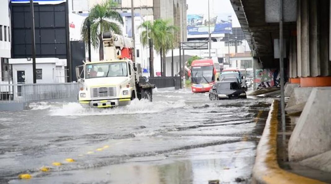
<svg viewBox="0 0 331 184">
<path fill-rule="evenodd" d="M 280 103 L 282 114 L 282 133 L 283 143 L 286 141 L 285 132 L 285 95 L 284 95 L 284 55 L 283 55 L 283 0 L 280 0 L 279 6 L 279 68 L 280 68 Z"/>
</svg>

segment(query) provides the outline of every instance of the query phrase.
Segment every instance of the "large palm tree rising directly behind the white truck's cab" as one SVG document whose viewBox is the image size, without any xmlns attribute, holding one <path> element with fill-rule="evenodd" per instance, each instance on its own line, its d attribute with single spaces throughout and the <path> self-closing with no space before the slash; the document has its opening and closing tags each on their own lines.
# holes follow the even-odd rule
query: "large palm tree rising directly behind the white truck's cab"
<svg viewBox="0 0 331 184">
<path fill-rule="evenodd" d="M 117 3 L 113 0 L 107 0 L 102 4 L 96 4 L 90 10 L 90 14 L 85 18 L 81 35 L 85 43 L 91 39 L 91 44 L 94 49 L 97 49 L 99 46 L 99 58 L 100 60 L 104 59 L 104 46 L 102 41 L 102 34 L 104 31 L 114 31 L 116 34 L 121 34 L 121 28 L 116 22 L 109 21 L 115 20 L 120 24 L 123 24 L 122 16 L 116 12 L 113 8 L 117 6 Z M 88 26 L 91 30 L 91 38 L 88 38 Z"/>
</svg>

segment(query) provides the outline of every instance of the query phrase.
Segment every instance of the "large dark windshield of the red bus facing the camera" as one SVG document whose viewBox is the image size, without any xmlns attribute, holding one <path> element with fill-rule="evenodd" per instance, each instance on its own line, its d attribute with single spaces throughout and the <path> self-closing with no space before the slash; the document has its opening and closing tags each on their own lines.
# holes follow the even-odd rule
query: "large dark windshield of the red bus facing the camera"
<svg viewBox="0 0 331 184">
<path fill-rule="evenodd" d="M 193 84 L 211 83 L 214 81 L 213 65 L 211 66 L 194 66 L 191 69 L 191 80 Z"/>
</svg>

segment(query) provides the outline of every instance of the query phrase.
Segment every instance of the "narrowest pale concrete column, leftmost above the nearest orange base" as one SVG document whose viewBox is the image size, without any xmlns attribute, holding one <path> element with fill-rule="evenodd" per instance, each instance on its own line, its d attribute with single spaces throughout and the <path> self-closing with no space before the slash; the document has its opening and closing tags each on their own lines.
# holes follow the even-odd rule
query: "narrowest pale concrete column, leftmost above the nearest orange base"
<svg viewBox="0 0 331 184">
<path fill-rule="evenodd" d="M 301 0 L 298 0 L 297 12 L 297 75 L 301 77 Z"/>
</svg>

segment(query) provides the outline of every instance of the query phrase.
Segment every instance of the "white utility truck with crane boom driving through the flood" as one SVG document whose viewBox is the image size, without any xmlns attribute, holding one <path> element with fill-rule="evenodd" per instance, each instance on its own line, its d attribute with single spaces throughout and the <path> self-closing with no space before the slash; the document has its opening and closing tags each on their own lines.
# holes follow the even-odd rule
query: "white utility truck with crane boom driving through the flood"
<svg viewBox="0 0 331 184">
<path fill-rule="evenodd" d="M 131 56 L 130 38 L 110 32 L 103 37 L 107 59 L 76 67 L 79 103 L 103 108 L 128 105 L 135 98 L 152 101 L 155 85 L 141 77 L 140 64 L 125 57 Z"/>
</svg>

